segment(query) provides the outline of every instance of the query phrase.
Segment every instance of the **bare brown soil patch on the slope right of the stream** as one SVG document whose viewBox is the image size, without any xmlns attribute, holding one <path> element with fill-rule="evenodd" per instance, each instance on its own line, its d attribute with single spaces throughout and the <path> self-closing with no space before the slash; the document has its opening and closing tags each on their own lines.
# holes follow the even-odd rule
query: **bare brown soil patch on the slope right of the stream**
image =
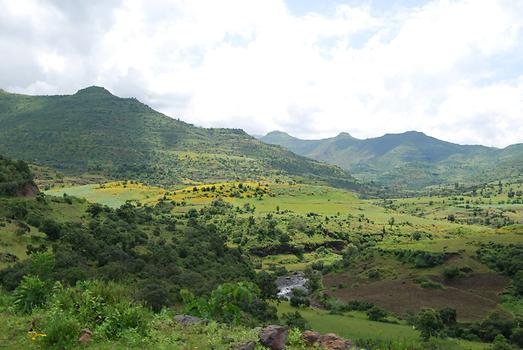
<svg viewBox="0 0 523 350">
<path fill-rule="evenodd" d="M 436 277 L 433 280 L 437 280 Z M 402 315 L 421 308 L 451 307 L 457 310 L 460 320 L 484 318 L 500 301 L 499 293 L 509 280 L 495 273 L 483 273 L 446 282 L 445 289 L 422 288 L 411 280 L 358 281 L 344 276 L 326 276 L 326 286 L 358 282 L 359 286 L 328 291 L 327 294 L 344 301 L 366 300 Z M 443 282 L 443 281 L 441 281 Z"/>
</svg>

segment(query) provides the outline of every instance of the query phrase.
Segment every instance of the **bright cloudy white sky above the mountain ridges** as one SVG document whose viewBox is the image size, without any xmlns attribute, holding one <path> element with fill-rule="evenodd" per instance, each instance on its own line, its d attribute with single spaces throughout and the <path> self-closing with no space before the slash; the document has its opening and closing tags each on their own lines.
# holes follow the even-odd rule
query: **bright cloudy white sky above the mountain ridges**
<svg viewBox="0 0 523 350">
<path fill-rule="evenodd" d="M 205 127 L 523 142 L 523 1 L 0 0 L 0 88 Z"/>
</svg>

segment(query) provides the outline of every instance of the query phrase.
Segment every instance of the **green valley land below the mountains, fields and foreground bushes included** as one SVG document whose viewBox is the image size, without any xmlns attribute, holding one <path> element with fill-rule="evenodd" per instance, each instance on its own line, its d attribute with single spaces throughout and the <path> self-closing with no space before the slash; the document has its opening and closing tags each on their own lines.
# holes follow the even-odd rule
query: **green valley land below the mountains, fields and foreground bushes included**
<svg viewBox="0 0 523 350">
<path fill-rule="evenodd" d="M 521 346 L 517 182 L 384 200 L 282 178 L 163 188 L 37 170 L 48 191 L 0 197 L 8 347 L 74 348 L 88 329 L 96 349 L 229 349 L 271 323 L 295 329 L 290 349 L 302 329 L 369 349 Z M 289 271 L 307 283 L 287 302 Z"/>
</svg>

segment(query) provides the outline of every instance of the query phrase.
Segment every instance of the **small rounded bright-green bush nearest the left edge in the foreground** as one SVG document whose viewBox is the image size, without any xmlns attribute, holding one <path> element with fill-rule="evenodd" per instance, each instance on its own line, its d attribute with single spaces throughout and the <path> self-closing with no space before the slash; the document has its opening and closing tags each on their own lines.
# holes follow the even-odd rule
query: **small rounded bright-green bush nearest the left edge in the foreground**
<svg viewBox="0 0 523 350">
<path fill-rule="evenodd" d="M 36 276 L 24 276 L 14 291 L 14 305 L 17 310 L 30 314 L 34 308 L 47 300 L 48 287 Z"/>
</svg>

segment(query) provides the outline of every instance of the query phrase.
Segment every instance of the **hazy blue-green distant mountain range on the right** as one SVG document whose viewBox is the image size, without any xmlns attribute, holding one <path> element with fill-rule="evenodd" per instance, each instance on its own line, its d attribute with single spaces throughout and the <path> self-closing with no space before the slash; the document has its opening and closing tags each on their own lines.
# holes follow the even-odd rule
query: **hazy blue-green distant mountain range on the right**
<svg viewBox="0 0 523 350">
<path fill-rule="evenodd" d="M 355 177 L 382 185 L 419 189 L 476 183 L 523 174 L 523 144 L 505 149 L 458 145 L 408 131 L 360 140 L 347 133 L 301 140 L 281 131 L 260 138 L 297 154 L 338 165 Z"/>
</svg>

